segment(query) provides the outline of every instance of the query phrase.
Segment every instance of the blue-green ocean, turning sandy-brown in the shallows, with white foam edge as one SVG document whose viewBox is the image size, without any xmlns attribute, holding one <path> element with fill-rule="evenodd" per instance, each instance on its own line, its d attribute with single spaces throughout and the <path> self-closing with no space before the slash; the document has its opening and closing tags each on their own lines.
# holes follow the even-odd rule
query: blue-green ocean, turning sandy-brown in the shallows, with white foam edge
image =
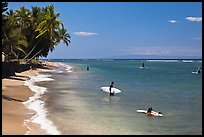
<svg viewBox="0 0 204 137">
<path fill-rule="evenodd" d="M 48 61 L 59 63 L 57 71 L 30 81 L 30 88 L 41 88 L 33 89 L 40 109 L 30 106 L 38 108 L 33 122 L 42 134 L 202 135 L 202 71 L 192 73 L 202 60 Z M 112 81 L 122 91 L 115 96 L 100 89 Z M 149 107 L 163 117 L 137 113 Z"/>
</svg>

